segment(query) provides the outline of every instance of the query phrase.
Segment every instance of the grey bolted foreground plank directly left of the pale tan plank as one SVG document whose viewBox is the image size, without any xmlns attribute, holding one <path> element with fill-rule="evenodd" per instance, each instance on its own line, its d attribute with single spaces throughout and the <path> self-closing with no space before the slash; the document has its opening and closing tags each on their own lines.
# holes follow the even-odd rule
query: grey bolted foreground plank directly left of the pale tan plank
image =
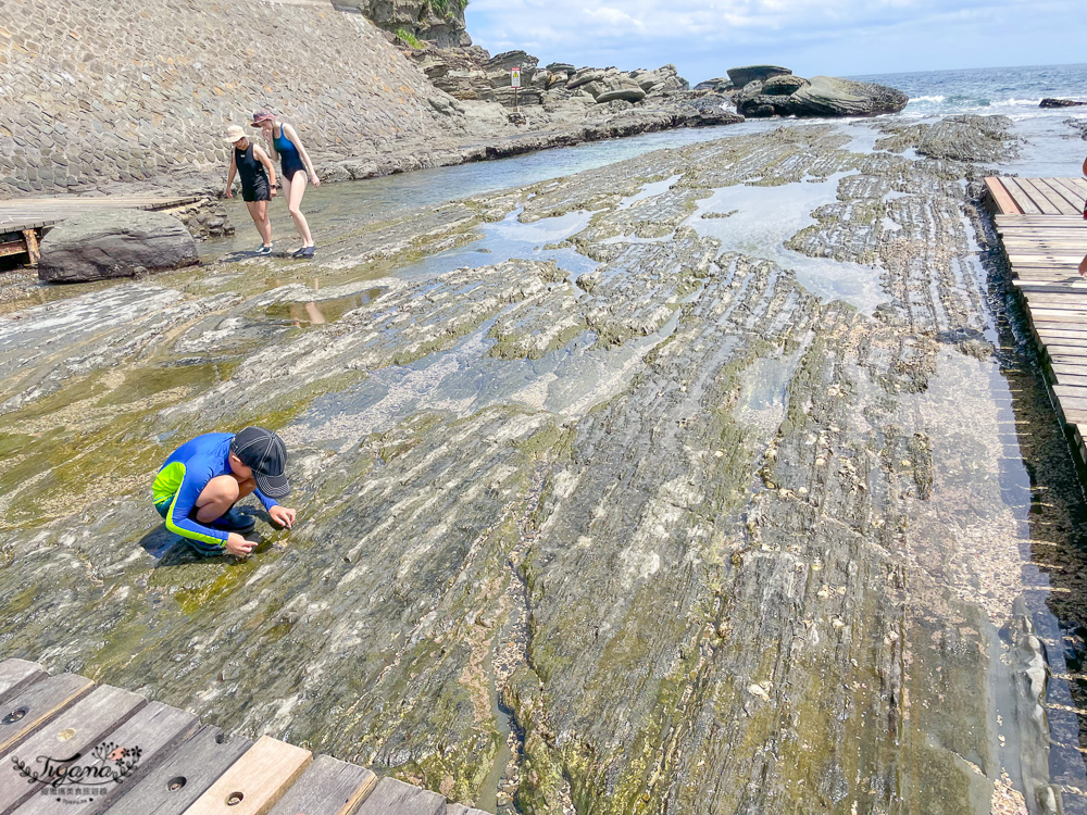
<svg viewBox="0 0 1087 815">
<path fill-rule="evenodd" d="M 110 815 L 182 815 L 252 745 L 250 739 L 228 739 L 205 725 L 143 780 L 126 788 Z"/>
</svg>

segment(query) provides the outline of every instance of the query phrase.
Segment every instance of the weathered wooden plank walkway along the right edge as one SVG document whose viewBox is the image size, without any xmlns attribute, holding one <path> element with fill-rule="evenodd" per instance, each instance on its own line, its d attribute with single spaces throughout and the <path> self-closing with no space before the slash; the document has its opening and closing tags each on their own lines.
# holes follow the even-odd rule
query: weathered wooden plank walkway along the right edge
<svg viewBox="0 0 1087 815">
<path fill-rule="evenodd" d="M 1061 419 L 1087 466 L 1087 180 L 986 178 L 997 233 Z"/>
</svg>

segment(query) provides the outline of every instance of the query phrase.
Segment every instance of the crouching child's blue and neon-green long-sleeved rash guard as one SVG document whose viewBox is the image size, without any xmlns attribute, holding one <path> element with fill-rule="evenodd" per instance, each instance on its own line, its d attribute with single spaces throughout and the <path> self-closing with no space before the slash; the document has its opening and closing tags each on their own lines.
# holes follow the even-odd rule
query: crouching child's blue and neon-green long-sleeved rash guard
<svg viewBox="0 0 1087 815">
<path fill-rule="evenodd" d="M 233 432 L 208 432 L 186 441 L 175 450 L 154 477 L 152 492 L 154 506 L 166 521 L 166 528 L 188 538 L 201 552 L 222 554 L 229 532 L 204 526 L 189 517 L 195 514 L 197 499 L 208 481 L 232 473 L 227 456 L 230 454 Z M 271 510 L 278 502 L 253 490 Z"/>
</svg>

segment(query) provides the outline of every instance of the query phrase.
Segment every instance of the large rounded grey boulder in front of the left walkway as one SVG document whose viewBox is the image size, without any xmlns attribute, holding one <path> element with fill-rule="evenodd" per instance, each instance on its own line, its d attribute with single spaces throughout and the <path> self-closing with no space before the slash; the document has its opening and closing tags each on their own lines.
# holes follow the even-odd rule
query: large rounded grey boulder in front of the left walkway
<svg viewBox="0 0 1087 815">
<path fill-rule="evenodd" d="M 95 210 L 67 218 L 46 235 L 38 277 L 49 283 L 82 283 L 198 262 L 196 239 L 173 215 Z"/>
</svg>

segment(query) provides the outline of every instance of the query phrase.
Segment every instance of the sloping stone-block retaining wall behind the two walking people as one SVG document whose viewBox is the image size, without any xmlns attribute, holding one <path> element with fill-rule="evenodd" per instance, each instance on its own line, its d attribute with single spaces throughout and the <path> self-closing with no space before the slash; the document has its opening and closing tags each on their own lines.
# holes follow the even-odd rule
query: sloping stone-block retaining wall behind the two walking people
<svg viewBox="0 0 1087 815">
<path fill-rule="evenodd" d="M 207 176 L 270 105 L 311 154 L 448 128 L 434 87 L 328 0 L 0 0 L 0 197 Z M 324 158 L 324 156 L 323 156 Z M 317 155 L 314 155 L 317 160 Z"/>
</svg>

